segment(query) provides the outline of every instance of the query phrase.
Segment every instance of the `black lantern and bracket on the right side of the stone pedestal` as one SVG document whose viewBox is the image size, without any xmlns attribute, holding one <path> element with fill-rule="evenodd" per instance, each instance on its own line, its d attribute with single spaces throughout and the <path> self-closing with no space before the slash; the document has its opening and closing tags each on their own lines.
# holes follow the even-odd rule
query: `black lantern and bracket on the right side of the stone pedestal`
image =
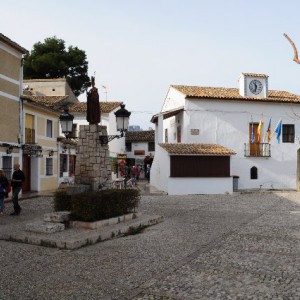
<svg viewBox="0 0 300 300">
<path fill-rule="evenodd" d="M 125 109 L 125 104 L 120 105 L 120 109 L 115 112 L 116 121 L 117 121 L 117 130 L 121 132 L 120 135 L 99 135 L 99 140 L 101 145 L 107 145 L 113 139 L 121 138 L 124 136 L 124 132 L 128 130 L 129 117 L 131 112 Z"/>
</svg>

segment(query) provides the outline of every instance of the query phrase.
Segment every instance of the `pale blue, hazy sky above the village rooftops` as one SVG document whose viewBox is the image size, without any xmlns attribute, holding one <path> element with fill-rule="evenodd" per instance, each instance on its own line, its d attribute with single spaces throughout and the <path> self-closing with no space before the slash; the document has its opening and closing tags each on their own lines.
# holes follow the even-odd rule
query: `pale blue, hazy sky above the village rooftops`
<svg viewBox="0 0 300 300">
<path fill-rule="evenodd" d="M 130 125 L 144 130 L 154 127 L 172 84 L 237 88 L 241 73 L 261 73 L 269 89 L 300 95 L 300 65 L 283 36 L 300 51 L 298 0 L 2 0 L 0 7 L 0 32 L 27 50 L 53 36 L 84 50 L 100 101 L 124 102 Z"/>
</svg>

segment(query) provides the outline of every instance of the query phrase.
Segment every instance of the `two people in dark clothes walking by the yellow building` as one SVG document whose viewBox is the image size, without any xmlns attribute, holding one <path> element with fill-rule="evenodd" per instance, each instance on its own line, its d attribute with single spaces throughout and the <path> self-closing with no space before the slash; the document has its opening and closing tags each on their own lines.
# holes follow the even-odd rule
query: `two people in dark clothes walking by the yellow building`
<svg viewBox="0 0 300 300">
<path fill-rule="evenodd" d="M 11 216 L 18 216 L 21 213 L 21 206 L 19 205 L 19 193 L 22 189 L 22 183 L 25 181 L 25 175 L 20 170 L 20 164 L 14 164 L 14 172 L 9 181 L 3 170 L 0 170 L 0 215 L 4 214 L 4 199 L 8 197 L 9 185 L 12 188 L 12 201 L 14 211 Z"/>
</svg>

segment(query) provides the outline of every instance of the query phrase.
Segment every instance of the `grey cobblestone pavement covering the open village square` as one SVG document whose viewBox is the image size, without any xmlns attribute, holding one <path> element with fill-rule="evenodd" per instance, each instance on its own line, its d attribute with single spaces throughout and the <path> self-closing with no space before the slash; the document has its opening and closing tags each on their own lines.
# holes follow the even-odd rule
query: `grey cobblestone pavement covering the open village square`
<svg viewBox="0 0 300 300">
<path fill-rule="evenodd" d="M 0 241 L 0 299 L 300 299 L 297 192 L 143 196 L 140 211 L 165 221 L 74 251 Z"/>
</svg>

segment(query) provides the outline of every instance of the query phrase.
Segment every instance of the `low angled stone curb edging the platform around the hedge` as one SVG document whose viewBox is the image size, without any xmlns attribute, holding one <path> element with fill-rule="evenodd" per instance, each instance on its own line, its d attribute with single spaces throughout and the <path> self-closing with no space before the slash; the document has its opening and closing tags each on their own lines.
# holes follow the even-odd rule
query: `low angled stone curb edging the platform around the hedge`
<svg viewBox="0 0 300 300">
<path fill-rule="evenodd" d="M 0 239 L 63 250 L 75 250 L 106 240 L 123 237 L 127 233 L 130 234 L 130 231 L 138 231 L 139 229 L 161 223 L 163 220 L 163 216 L 142 216 L 138 220 L 106 226 L 101 229 L 84 230 L 79 234 L 74 234 L 73 237 L 68 233 L 72 229 L 68 229 L 63 231 L 63 236 L 59 237 L 49 236 L 49 234 L 41 235 L 21 232 L 18 234 L 4 234 Z"/>
</svg>

